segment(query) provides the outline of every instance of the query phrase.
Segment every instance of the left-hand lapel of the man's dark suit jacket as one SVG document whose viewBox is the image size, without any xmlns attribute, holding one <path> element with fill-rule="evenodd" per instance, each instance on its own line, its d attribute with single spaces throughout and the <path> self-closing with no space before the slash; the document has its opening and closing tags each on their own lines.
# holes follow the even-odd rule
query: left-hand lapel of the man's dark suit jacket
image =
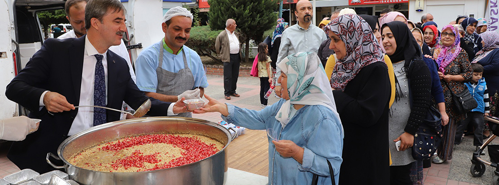
<svg viewBox="0 0 499 185">
<path fill-rule="evenodd" d="M 81 90 L 81 75 L 83 72 L 83 57 L 85 53 L 85 36 L 72 42 L 69 48 L 69 67 L 71 70 L 71 78 L 75 89 L 76 102 L 75 106 L 80 104 L 80 90 Z M 72 102 L 69 102 L 72 103 Z"/>
</svg>

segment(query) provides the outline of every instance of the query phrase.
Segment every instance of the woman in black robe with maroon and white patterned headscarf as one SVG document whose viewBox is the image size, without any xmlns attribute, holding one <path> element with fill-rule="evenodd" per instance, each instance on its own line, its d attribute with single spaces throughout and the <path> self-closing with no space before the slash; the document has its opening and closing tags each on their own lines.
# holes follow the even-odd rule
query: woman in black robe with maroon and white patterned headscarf
<svg viewBox="0 0 499 185">
<path fill-rule="evenodd" d="M 391 85 L 381 47 L 369 24 L 355 14 L 338 16 L 325 30 L 338 59 L 330 84 L 345 128 L 339 184 L 389 184 Z M 358 167 L 369 173 L 359 178 Z"/>
</svg>

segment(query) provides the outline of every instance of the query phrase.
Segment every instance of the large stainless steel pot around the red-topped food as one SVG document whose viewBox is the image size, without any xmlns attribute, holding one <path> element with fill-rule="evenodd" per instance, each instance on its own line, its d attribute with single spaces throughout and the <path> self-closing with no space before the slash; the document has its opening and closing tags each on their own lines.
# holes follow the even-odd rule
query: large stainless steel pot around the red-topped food
<svg viewBox="0 0 499 185">
<path fill-rule="evenodd" d="M 68 162 L 70 157 L 88 147 L 128 136 L 153 133 L 202 135 L 218 140 L 225 146 L 217 154 L 201 161 L 147 172 L 99 172 L 82 169 Z M 59 145 L 59 157 L 48 153 L 47 162 L 54 168 L 64 168 L 70 179 L 81 184 L 224 184 L 227 178 L 225 148 L 233 139 L 227 128 L 206 120 L 183 117 L 137 118 L 81 131 Z M 50 156 L 64 161 L 64 166 L 54 165 L 49 160 Z"/>
</svg>

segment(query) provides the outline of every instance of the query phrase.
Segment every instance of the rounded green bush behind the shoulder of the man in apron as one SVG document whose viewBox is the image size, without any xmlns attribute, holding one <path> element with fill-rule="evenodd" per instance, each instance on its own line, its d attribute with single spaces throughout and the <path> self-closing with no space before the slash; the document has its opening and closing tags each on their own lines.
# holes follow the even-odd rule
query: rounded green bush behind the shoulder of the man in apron
<svg viewBox="0 0 499 185">
<path fill-rule="evenodd" d="M 220 59 L 213 57 L 211 53 L 216 53 L 215 40 L 221 31 L 222 30 L 212 31 L 209 26 L 192 27 L 190 30 L 190 38 L 185 45 L 198 52 L 199 55 L 205 55 L 215 61 L 220 61 Z"/>
</svg>

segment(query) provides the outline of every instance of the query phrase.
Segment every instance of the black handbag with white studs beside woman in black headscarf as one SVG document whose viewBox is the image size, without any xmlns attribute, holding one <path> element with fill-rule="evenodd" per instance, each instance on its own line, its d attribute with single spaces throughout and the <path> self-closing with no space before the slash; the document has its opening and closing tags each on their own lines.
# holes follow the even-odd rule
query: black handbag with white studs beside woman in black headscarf
<svg viewBox="0 0 499 185">
<path fill-rule="evenodd" d="M 413 158 L 430 159 L 442 142 L 442 115 L 437 108 L 430 106 L 426 117 L 414 135 Z"/>
</svg>

